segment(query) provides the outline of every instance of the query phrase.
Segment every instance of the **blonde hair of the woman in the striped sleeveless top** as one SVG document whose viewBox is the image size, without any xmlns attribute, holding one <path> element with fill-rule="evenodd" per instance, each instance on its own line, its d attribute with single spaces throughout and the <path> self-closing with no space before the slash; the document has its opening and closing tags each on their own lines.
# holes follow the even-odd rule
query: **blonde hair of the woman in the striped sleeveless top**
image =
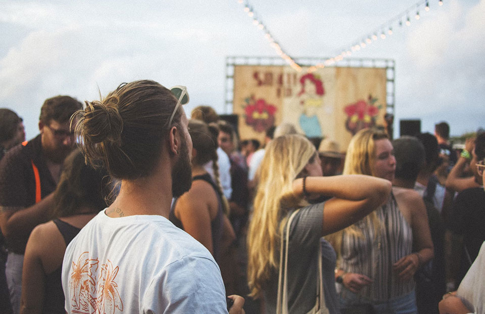
<svg viewBox="0 0 485 314">
<path fill-rule="evenodd" d="M 357 132 L 349 143 L 347 154 L 345 156 L 343 174 L 367 174 L 375 176 L 373 171 L 373 164 L 376 158 L 375 141 L 382 139 L 389 139 L 389 136 L 387 136 L 387 133 L 377 128 L 366 128 Z M 378 234 L 383 227 L 382 222 L 377 217 L 375 211 L 365 216 L 363 219 L 367 226 L 374 228 L 374 234 Z M 332 243 L 333 248 L 339 256 L 344 232 L 357 237 L 362 237 L 362 232 L 356 224 L 326 236 L 325 238 Z"/>
</svg>

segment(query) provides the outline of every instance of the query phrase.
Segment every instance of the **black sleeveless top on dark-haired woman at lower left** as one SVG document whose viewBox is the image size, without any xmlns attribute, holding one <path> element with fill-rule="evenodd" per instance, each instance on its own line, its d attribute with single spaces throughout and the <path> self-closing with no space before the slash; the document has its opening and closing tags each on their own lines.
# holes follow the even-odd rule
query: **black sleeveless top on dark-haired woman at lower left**
<svg viewBox="0 0 485 314">
<path fill-rule="evenodd" d="M 79 231 L 81 231 L 81 229 L 69 225 L 69 223 L 65 221 L 59 219 L 54 219 L 53 221 L 56 224 L 57 229 L 61 232 L 64 242 L 66 242 L 66 247 Z M 66 312 L 64 309 L 64 291 L 62 290 L 61 276 L 62 264 L 54 272 L 45 276 L 45 295 L 42 313 Z"/>
</svg>

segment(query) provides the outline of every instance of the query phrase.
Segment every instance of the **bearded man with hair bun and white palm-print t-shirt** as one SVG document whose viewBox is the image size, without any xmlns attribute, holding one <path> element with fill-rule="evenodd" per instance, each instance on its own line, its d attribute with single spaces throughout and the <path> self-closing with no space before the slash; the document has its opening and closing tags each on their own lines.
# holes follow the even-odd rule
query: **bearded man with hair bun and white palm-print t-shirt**
<svg viewBox="0 0 485 314">
<path fill-rule="evenodd" d="M 168 219 L 192 180 L 187 102 L 184 86 L 140 80 L 78 112 L 87 162 L 102 163 L 121 186 L 66 248 L 67 312 L 227 313 L 216 261 Z M 229 298 L 230 313 L 244 313 L 244 299 Z"/>
</svg>

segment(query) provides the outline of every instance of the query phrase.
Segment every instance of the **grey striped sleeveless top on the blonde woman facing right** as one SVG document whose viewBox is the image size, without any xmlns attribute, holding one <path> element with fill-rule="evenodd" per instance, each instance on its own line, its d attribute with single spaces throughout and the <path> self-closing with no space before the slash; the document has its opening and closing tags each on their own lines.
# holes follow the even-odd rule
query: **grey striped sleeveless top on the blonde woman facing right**
<svg viewBox="0 0 485 314">
<path fill-rule="evenodd" d="M 414 289 L 414 279 L 403 282 L 394 271 L 393 264 L 412 253 L 413 233 L 408 221 L 399 210 L 394 195 L 376 211 L 382 222 L 380 233 L 375 234 L 368 219 L 355 225 L 363 237 L 344 232 L 340 268 L 346 273 L 357 273 L 373 279 L 373 283 L 362 288 L 359 295 L 385 301 L 405 295 Z M 347 289 L 342 289 L 345 294 Z"/>
</svg>

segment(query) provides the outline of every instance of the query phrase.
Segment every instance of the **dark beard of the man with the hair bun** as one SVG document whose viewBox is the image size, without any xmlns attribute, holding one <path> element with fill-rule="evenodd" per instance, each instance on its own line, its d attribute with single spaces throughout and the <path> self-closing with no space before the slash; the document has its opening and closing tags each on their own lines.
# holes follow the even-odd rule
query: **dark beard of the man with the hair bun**
<svg viewBox="0 0 485 314">
<path fill-rule="evenodd" d="M 180 156 L 172 168 L 172 196 L 179 197 L 192 186 L 192 167 L 185 142 L 180 147 Z"/>
</svg>

